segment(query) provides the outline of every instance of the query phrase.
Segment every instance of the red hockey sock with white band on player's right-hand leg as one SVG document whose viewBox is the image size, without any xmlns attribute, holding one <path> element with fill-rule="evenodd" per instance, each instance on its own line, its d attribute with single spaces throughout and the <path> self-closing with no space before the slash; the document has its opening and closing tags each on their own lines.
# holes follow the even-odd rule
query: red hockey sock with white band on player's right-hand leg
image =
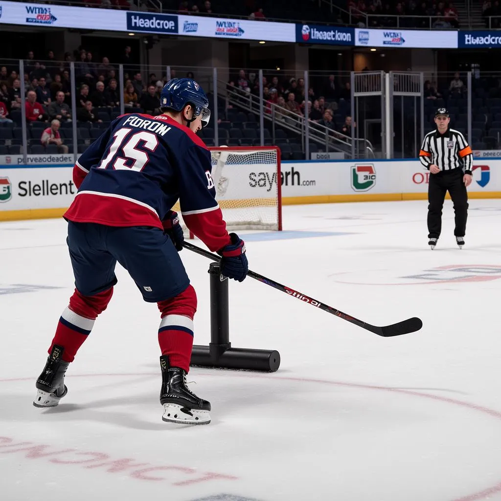
<svg viewBox="0 0 501 501">
<path fill-rule="evenodd" d="M 171 367 L 189 371 L 193 347 L 193 316 L 196 312 L 196 294 L 191 285 L 175 298 L 161 301 L 158 308 L 162 321 L 158 328 L 158 344 L 162 355 L 169 357 Z"/>
</svg>

